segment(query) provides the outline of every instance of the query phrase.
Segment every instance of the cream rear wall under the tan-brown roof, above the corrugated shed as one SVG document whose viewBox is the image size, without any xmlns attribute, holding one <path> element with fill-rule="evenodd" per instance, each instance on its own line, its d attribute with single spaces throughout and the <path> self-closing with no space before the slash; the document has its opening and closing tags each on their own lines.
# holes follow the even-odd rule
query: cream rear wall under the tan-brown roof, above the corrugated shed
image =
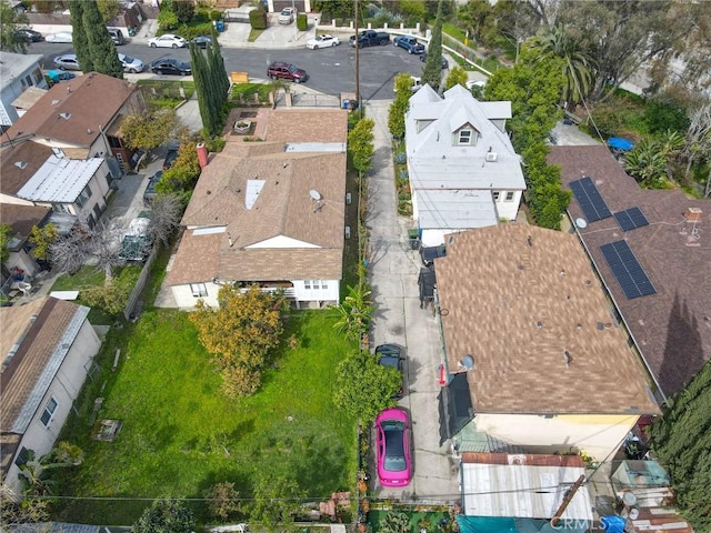
<svg viewBox="0 0 711 533">
<path fill-rule="evenodd" d="M 538 453 L 585 452 L 597 461 L 613 454 L 634 426 L 637 414 L 477 414 L 478 432 Z"/>
</svg>

